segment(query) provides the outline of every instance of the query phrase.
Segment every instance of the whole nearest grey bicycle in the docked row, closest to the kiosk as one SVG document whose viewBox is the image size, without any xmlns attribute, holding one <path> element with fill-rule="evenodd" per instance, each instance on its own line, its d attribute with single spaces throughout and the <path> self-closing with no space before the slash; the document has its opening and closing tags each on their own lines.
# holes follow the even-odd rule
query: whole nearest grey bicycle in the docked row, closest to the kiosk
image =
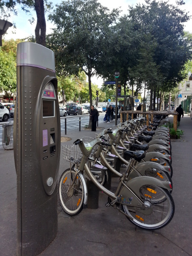
<svg viewBox="0 0 192 256">
<path fill-rule="evenodd" d="M 94 139 L 90 143 L 84 143 L 78 139 L 74 144 L 79 145 L 81 152 L 78 153 L 72 146 L 70 150 L 63 150 L 63 157 L 65 160 L 75 163 L 76 169 L 65 170 L 58 184 L 59 201 L 68 215 L 76 215 L 86 208 L 87 186 L 83 176 L 85 173 L 102 192 L 108 195 L 106 206 L 113 206 L 137 227 L 156 230 L 165 227 L 172 220 L 175 204 L 168 192 L 171 186 L 170 182 L 162 182 L 147 176 L 128 180 L 127 169 L 119 180 L 116 192 L 113 193 L 96 180 L 87 166 L 87 160 L 93 147 L 101 144 L 108 146 L 109 144 L 101 139 Z M 135 160 L 141 160 L 144 157 L 144 151 L 128 152 L 130 157 Z M 65 153 L 67 153 L 67 157 Z M 82 158 L 79 157 L 80 154 L 82 154 Z M 99 166 L 98 168 L 102 170 L 103 167 Z M 166 198 L 166 200 L 159 202 L 159 198 Z"/>
</svg>

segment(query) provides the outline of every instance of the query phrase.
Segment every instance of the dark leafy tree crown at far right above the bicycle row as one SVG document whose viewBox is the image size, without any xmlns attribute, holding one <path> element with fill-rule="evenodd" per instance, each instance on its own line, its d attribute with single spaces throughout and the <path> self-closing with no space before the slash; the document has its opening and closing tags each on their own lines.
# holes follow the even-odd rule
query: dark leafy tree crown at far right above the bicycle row
<svg viewBox="0 0 192 256">
<path fill-rule="evenodd" d="M 151 35 L 156 47 L 151 63 L 158 67 L 161 87 L 158 90 L 170 91 L 183 80 L 186 61 L 191 59 L 191 43 L 184 37 L 184 23 L 189 15 L 179 8 L 183 1 L 173 6 L 165 1 L 146 0 L 146 5 L 129 8 L 129 18 L 135 31 Z M 156 91 L 156 84 L 151 87 Z M 152 93 L 151 93 L 152 95 Z"/>
</svg>

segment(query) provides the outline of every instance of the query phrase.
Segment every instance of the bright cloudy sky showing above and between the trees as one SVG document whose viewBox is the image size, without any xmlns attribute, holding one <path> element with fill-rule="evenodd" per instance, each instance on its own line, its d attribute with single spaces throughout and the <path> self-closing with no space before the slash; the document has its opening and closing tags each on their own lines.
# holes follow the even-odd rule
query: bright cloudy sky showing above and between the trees
<svg viewBox="0 0 192 256">
<path fill-rule="evenodd" d="M 51 0 L 51 2 L 55 4 L 59 4 L 62 1 L 61 0 Z M 145 0 L 99 0 L 99 2 L 102 4 L 102 6 L 108 7 L 108 9 L 118 8 L 121 7 L 122 14 L 126 14 L 128 5 L 135 6 L 137 3 L 145 3 Z M 175 5 L 176 0 L 169 0 L 169 3 Z M 184 0 L 185 5 L 180 6 L 181 9 L 186 10 L 189 12 L 189 15 L 192 15 L 192 0 Z M 35 12 L 33 13 L 34 17 L 36 18 Z M 25 38 L 30 35 L 35 35 L 35 23 L 30 24 L 28 21 L 30 19 L 29 15 L 26 15 L 25 12 L 23 12 L 18 7 L 18 15 L 12 16 L 9 18 L 10 22 L 14 22 L 17 29 L 13 29 L 12 27 L 8 29 L 6 35 L 3 36 L 3 39 L 10 40 L 11 38 L 17 39 L 17 38 Z M 47 21 L 47 34 L 51 33 L 51 27 L 53 26 L 52 23 Z M 192 33 L 192 17 L 191 19 L 186 23 L 185 31 L 189 31 Z M 13 34 L 14 32 L 14 34 Z M 93 77 L 91 79 L 92 83 L 97 84 L 99 87 L 103 84 L 103 79 Z"/>
</svg>

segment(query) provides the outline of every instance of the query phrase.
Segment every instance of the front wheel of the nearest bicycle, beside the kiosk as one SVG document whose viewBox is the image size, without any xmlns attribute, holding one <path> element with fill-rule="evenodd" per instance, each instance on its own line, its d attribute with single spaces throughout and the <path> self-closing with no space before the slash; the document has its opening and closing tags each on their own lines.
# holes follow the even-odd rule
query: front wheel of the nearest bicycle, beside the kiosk
<svg viewBox="0 0 192 256">
<path fill-rule="evenodd" d="M 75 175 L 75 170 L 66 169 L 58 183 L 58 197 L 61 207 L 70 216 L 79 214 L 83 209 L 84 202 L 84 184 L 79 175 L 74 180 Z"/>
</svg>

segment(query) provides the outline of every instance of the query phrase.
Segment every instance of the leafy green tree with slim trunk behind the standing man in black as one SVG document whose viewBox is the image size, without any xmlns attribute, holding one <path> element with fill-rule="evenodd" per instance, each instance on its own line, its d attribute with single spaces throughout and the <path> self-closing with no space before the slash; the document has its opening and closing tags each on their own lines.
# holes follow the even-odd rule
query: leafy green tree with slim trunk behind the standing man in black
<svg viewBox="0 0 192 256">
<path fill-rule="evenodd" d="M 91 77 L 108 47 L 109 27 L 119 12 L 111 13 L 97 0 L 71 0 L 56 5 L 49 16 L 56 28 L 50 38 L 55 52 L 58 74 L 76 74 L 79 68 L 88 76 L 90 105 L 92 105 Z M 59 47 L 58 47 L 59 45 Z"/>
</svg>

